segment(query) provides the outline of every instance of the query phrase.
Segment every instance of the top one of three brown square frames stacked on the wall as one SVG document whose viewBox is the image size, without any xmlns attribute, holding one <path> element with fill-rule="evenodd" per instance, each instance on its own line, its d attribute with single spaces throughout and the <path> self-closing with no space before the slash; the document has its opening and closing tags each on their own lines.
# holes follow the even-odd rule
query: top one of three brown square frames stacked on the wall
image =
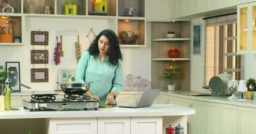
<svg viewBox="0 0 256 134">
<path fill-rule="evenodd" d="M 31 45 L 48 46 L 48 31 L 31 31 Z"/>
</svg>

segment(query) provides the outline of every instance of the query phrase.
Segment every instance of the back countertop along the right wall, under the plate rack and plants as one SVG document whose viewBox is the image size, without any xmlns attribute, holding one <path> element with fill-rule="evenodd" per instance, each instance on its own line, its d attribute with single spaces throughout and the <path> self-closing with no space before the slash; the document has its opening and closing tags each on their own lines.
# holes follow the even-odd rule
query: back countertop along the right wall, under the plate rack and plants
<svg viewBox="0 0 256 134">
<path fill-rule="evenodd" d="M 236 106 L 256 108 L 256 100 L 253 100 L 253 99 L 249 99 L 245 102 L 241 102 L 234 98 L 229 99 L 228 96 L 222 96 L 222 97 L 191 96 L 190 94 L 202 94 L 202 92 L 183 91 L 183 90 L 161 91 L 160 94 L 167 94 L 170 96 L 189 98 L 189 99 L 193 99 L 193 100 L 201 100 L 201 101 L 210 102 L 210 103 L 222 103 L 222 104 L 227 104 L 227 105 L 236 105 Z"/>
</svg>

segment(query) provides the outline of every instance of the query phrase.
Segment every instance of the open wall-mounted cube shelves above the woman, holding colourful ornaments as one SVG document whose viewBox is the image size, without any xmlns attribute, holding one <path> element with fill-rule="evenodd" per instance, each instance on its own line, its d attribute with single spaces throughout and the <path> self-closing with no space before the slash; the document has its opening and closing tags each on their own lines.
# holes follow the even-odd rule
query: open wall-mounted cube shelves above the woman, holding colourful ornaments
<svg viewBox="0 0 256 134">
<path fill-rule="evenodd" d="M 77 15 L 65 15 L 64 0 L 33 0 L 35 5 L 35 12 L 31 13 L 29 3 L 27 0 L 9 0 L 9 4 L 15 9 L 14 13 L 1 13 L 0 16 L 18 16 L 18 27 L 13 27 L 15 31 L 19 31 L 18 36 L 24 39 L 24 25 L 25 17 L 65 17 L 65 18 L 84 18 L 84 19 L 110 19 L 113 23 L 113 30 L 119 35 L 120 31 L 139 31 L 137 42 L 135 44 L 122 44 L 121 47 L 145 47 L 146 46 L 146 18 L 145 18 L 145 0 L 106 0 L 108 3 L 108 15 L 90 15 L 90 11 L 94 11 L 94 0 L 78 0 Z M 50 14 L 44 14 L 46 6 L 50 7 Z M 1 7 L 1 6 L 0 6 Z M 125 9 L 133 8 L 135 16 L 125 16 Z M 129 20 L 130 22 L 125 22 Z M 0 18 L 1 21 L 1 18 Z M 1 24 L 0 24 L 1 25 Z M 18 26 L 17 25 L 17 26 Z M 18 30 L 17 30 L 18 28 Z M 15 35 L 16 36 L 16 35 Z M 120 38 L 120 37 L 119 37 Z M 11 44 L 11 43 L 10 43 Z M 0 45 L 10 45 L 9 43 L 0 43 Z M 24 45 L 20 44 L 11 44 Z"/>
</svg>

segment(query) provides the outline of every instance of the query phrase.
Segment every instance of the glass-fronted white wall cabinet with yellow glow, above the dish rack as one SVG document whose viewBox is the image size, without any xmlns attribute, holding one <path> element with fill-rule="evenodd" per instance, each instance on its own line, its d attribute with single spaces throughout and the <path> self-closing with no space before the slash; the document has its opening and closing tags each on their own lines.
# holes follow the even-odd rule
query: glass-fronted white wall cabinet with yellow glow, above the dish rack
<svg viewBox="0 0 256 134">
<path fill-rule="evenodd" d="M 256 54 L 256 3 L 237 6 L 237 53 Z"/>
</svg>

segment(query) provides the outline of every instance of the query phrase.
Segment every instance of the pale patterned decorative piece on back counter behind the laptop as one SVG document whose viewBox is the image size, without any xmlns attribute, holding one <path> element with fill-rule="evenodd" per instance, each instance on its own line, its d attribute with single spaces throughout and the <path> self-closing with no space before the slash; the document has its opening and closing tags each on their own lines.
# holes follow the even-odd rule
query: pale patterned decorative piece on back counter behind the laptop
<svg viewBox="0 0 256 134">
<path fill-rule="evenodd" d="M 128 74 L 126 80 L 123 82 L 123 88 L 124 90 L 147 90 L 151 88 L 151 83 L 149 80 L 140 76 Z"/>
</svg>

